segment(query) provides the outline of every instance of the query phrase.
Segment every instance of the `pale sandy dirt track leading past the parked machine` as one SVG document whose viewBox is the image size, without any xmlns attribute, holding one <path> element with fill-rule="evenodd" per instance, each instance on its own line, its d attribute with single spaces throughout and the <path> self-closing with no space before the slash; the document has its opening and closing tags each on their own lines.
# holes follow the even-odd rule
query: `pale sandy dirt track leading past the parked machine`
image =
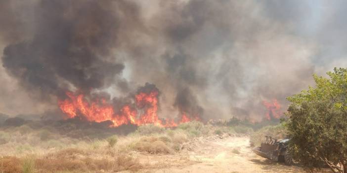
<svg viewBox="0 0 347 173">
<path fill-rule="evenodd" d="M 204 142 L 177 156 L 150 156 L 147 173 L 305 173 L 297 166 L 271 162 L 252 152 L 249 137 Z M 151 164 L 153 165 L 153 164 Z"/>
</svg>

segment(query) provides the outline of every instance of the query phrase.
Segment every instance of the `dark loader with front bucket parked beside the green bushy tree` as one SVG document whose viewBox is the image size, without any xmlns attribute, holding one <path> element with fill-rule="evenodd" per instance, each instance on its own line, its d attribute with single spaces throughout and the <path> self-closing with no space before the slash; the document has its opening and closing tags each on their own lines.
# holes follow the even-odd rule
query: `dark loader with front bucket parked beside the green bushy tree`
<svg viewBox="0 0 347 173">
<path fill-rule="evenodd" d="M 289 138 L 280 140 L 269 136 L 265 138 L 266 140 L 261 142 L 260 146 L 253 148 L 253 152 L 275 162 L 284 162 L 288 166 L 293 164 L 292 156 L 288 152 Z"/>
</svg>

